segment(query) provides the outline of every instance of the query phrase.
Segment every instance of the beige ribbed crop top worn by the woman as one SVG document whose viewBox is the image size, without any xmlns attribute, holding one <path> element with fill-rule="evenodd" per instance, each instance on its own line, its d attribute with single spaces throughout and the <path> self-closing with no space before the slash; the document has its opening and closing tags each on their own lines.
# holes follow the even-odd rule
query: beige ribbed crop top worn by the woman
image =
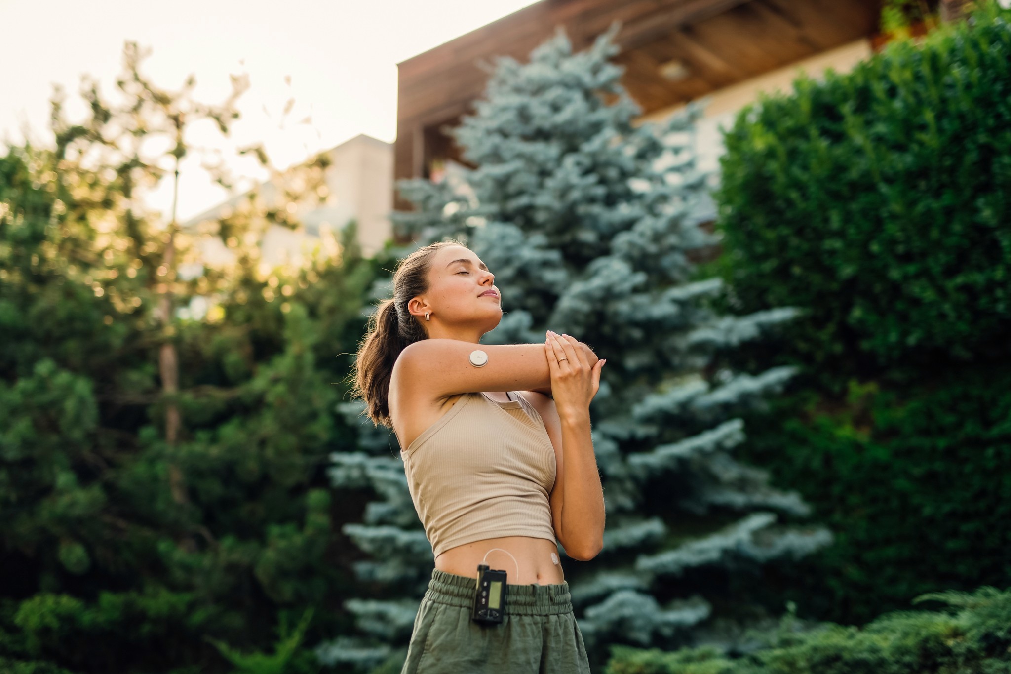
<svg viewBox="0 0 1011 674">
<path fill-rule="evenodd" d="M 533 405 L 509 395 L 514 399 L 498 402 L 463 393 L 400 451 L 410 498 L 436 557 L 500 536 L 555 542 L 551 439 Z"/>
</svg>

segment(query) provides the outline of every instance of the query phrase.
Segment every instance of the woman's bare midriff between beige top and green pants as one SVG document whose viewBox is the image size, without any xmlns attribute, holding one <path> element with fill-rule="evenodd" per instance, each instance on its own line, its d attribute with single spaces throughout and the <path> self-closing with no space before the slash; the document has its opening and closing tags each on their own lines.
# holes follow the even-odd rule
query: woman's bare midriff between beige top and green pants
<svg viewBox="0 0 1011 674">
<path fill-rule="evenodd" d="M 555 564 L 551 559 L 552 553 L 558 556 L 558 546 L 547 539 L 502 536 L 450 548 L 436 558 L 436 568 L 446 573 L 476 579 L 477 565 L 484 560 L 483 564 L 487 564 L 488 567 L 504 570 L 505 582 L 510 585 L 557 585 L 565 581 L 565 574 L 562 573 L 561 559 Z M 516 558 L 516 562 L 513 558 Z"/>
</svg>

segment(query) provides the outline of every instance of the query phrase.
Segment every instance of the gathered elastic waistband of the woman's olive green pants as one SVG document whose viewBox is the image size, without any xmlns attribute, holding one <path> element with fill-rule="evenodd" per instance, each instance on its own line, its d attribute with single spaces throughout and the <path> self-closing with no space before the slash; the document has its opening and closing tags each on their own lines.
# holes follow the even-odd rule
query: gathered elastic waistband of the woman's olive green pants
<svg viewBox="0 0 1011 674">
<path fill-rule="evenodd" d="M 432 580 L 429 581 L 425 599 L 450 606 L 473 608 L 476 591 L 476 577 L 432 569 Z M 568 581 L 552 585 L 508 583 L 505 595 L 505 615 L 555 615 L 572 610 Z"/>
</svg>

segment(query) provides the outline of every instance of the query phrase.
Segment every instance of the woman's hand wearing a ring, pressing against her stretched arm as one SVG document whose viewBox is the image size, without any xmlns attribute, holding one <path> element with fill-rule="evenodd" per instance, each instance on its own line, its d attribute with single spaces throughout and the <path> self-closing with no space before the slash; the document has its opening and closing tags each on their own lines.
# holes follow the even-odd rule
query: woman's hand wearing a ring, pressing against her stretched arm
<svg viewBox="0 0 1011 674">
<path fill-rule="evenodd" d="M 596 359 L 584 344 L 568 334 L 548 331 L 544 348 L 551 370 L 551 396 L 558 415 L 585 414 L 601 388 L 601 370 L 607 360 Z M 591 356 L 587 356 L 589 351 Z M 590 358 L 596 359 L 590 364 Z"/>
</svg>

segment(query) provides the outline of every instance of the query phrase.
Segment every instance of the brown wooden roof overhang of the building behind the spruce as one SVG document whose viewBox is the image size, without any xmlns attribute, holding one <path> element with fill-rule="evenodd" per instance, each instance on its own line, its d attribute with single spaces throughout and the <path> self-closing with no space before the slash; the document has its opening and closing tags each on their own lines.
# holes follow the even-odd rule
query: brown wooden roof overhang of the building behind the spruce
<svg viewBox="0 0 1011 674">
<path fill-rule="evenodd" d="M 573 50 L 621 21 L 623 84 L 649 113 L 877 33 L 882 0 L 542 0 L 399 64 L 394 178 L 457 158 L 441 127 L 472 111 L 496 56 L 526 62 L 563 26 Z M 678 79 L 669 74 L 680 72 Z M 395 207 L 406 207 L 397 200 Z"/>
</svg>

